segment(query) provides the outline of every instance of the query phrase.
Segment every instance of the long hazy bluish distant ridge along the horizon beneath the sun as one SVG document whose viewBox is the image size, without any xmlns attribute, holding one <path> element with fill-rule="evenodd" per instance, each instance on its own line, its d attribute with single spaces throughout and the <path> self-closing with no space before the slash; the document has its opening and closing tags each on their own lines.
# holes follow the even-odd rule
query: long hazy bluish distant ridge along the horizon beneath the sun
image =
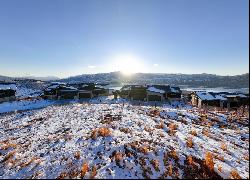
<svg viewBox="0 0 250 180">
<path fill-rule="evenodd" d="M 249 73 L 236 76 L 214 74 L 151 74 L 124 76 L 120 72 L 83 74 L 61 79 L 61 82 L 98 82 L 108 84 L 171 84 L 187 87 L 249 88 Z"/>
</svg>

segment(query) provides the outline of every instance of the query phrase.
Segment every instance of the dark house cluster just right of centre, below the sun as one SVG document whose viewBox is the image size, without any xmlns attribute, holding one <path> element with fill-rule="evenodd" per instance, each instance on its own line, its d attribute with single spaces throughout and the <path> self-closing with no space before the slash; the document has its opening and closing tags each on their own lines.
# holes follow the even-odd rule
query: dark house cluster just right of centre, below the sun
<svg viewBox="0 0 250 180">
<path fill-rule="evenodd" d="M 169 85 L 125 85 L 119 96 L 130 100 L 164 101 L 180 100 L 181 93 L 179 87 Z"/>
</svg>

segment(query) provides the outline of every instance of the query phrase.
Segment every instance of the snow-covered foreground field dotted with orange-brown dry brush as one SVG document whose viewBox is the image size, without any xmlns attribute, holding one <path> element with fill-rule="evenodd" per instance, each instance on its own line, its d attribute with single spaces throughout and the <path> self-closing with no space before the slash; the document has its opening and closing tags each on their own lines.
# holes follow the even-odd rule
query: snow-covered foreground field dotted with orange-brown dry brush
<svg viewBox="0 0 250 180">
<path fill-rule="evenodd" d="M 249 178 L 243 113 L 106 99 L 0 114 L 0 178 Z"/>
</svg>

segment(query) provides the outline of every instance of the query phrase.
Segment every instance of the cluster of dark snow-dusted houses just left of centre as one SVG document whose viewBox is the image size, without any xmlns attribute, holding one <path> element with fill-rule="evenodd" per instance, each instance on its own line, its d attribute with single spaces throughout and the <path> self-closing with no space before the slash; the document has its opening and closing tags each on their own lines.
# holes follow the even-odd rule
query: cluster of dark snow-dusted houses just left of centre
<svg viewBox="0 0 250 180">
<path fill-rule="evenodd" d="M 109 90 L 94 83 L 52 83 L 44 90 L 45 99 L 84 99 L 109 95 Z"/>
</svg>

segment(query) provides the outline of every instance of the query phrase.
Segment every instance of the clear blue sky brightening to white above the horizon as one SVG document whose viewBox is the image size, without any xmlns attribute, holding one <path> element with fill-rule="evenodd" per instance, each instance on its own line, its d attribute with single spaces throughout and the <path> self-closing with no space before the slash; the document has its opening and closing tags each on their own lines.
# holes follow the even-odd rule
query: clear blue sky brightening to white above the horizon
<svg viewBox="0 0 250 180">
<path fill-rule="evenodd" d="M 0 74 L 249 72 L 248 0 L 1 0 Z"/>
</svg>

